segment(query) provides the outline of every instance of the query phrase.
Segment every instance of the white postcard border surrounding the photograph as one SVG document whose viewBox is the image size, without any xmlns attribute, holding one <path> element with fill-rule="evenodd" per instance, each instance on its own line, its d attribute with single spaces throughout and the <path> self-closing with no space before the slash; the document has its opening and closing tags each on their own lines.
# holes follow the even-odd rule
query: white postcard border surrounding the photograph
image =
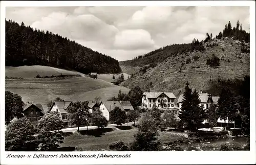
<svg viewBox="0 0 256 165">
<path fill-rule="evenodd" d="M 5 152 L 5 7 L 29 6 L 250 6 L 250 151 L 124 152 L 131 158 L 12 158 Z M 255 2 L 254 1 L 2 1 L 1 2 L 1 164 L 254 164 L 255 159 Z M 15 152 L 15 154 L 24 152 Z M 26 152 L 26 154 L 34 152 Z M 36 154 L 44 152 L 36 152 Z M 46 152 L 56 153 L 56 152 Z M 58 152 L 60 154 L 61 152 Z M 81 152 L 65 152 L 81 153 Z M 121 152 L 82 152 L 82 154 Z M 122 152 L 123 154 L 123 152 Z"/>
</svg>

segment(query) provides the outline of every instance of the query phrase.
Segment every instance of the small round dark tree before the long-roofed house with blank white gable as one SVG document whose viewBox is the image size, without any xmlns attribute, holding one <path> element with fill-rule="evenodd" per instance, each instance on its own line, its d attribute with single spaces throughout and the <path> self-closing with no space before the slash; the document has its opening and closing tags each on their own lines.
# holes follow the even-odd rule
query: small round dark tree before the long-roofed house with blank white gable
<svg viewBox="0 0 256 165">
<path fill-rule="evenodd" d="M 115 107 L 114 110 L 110 111 L 110 123 L 121 126 L 125 123 L 126 114 L 119 107 Z"/>
</svg>

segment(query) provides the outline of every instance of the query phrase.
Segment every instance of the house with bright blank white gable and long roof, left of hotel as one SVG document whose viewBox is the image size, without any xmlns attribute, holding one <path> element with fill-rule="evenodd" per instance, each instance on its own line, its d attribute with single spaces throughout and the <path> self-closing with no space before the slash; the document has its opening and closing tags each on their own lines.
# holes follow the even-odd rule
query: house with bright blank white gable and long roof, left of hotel
<svg viewBox="0 0 256 165">
<path fill-rule="evenodd" d="M 119 107 L 122 111 L 125 113 L 129 111 L 134 111 L 134 108 L 130 101 L 104 101 L 101 102 L 100 110 L 102 112 L 102 115 L 106 117 L 106 120 L 110 120 L 110 112 L 115 109 L 115 107 Z"/>
</svg>

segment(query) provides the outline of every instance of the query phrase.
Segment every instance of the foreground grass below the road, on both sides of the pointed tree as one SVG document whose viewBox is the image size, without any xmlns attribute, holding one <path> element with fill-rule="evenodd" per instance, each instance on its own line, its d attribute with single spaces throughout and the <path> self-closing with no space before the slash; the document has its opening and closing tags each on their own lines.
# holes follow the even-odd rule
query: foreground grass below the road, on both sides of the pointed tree
<svg viewBox="0 0 256 165">
<path fill-rule="evenodd" d="M 63 149 L 74 149 L 81 147 L 83 151 L 101 151 L 109 150 L 109 144 L 121 139 L 125 143 L 131 143 L 134 140 L 134 133 L 136 128 L 129 130 L 117 130 L 115 128 L 104 128 L 102 131 L 96 129 L 92 130 L 87 135 L 86 131 L 81 131 L 81 135 L 73 134 L 67 136 L 61 144 Z M 181 136 L 175 136 L 164 132 L 159 132 L 159 138 L 164 143 L 173 142 L 174 140 L 181 139 Z"/>
</svg>

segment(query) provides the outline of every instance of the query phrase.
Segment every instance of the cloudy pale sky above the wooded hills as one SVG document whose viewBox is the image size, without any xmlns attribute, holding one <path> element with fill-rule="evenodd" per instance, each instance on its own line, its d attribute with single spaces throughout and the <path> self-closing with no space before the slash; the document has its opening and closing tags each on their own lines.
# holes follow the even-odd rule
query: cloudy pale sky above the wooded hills
<svg viewBox="0 0 256 165">
<path fill-rule="evenodd" d="M 130 60 L 174 43 L 201 41 L 239 19 L 249 32 L 249 7 L 6 7 L 6 19 L 49 31 L 111 56 Z"/>
</svg>

